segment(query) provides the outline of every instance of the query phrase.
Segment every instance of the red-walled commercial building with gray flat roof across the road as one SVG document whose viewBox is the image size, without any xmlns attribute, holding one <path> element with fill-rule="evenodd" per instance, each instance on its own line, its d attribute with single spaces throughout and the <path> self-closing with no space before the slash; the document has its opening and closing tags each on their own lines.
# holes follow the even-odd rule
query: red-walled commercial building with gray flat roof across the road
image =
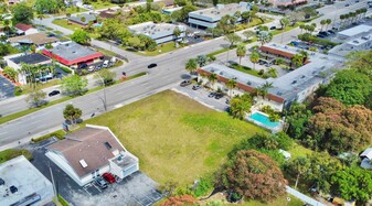
<svg viewBox="0 0 372 206">
<path fill-rule="evenodd" d="M 63 42 L 52 50 L 43 50 L 43 54 L 72 67 L 77 67 L 83 63 L 91 64 L 98 62 L 103 56 L 102 53 L 72 41 Z"/>
</svg>

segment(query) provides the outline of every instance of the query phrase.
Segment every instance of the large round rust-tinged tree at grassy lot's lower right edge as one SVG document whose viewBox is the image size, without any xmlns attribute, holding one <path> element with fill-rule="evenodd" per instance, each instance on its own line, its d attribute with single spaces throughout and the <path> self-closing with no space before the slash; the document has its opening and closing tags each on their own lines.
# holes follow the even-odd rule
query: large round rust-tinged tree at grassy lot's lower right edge
<svg viewBox="0 0 372 206">
<path fill-rule="evenodd" d="M 242 150 L 231 160 L 222 174 L 225 188 L 247 199 L 270 202 L 286 194 L 281 171 L 266 154 Z"/>
</svg>

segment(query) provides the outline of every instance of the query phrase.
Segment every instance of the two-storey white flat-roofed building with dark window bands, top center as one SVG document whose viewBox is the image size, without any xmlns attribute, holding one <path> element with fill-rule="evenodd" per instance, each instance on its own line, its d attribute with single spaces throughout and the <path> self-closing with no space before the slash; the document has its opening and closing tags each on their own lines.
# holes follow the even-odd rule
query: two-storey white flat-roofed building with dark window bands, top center
<svg viewBox="0 0 372 206">
<path fill-rule="evenodd" d="M 234 15 L 237 11 L 241 13 L 251 10 L 248 2 L 217 4 L 216 7 L 192 11 L 189 13 L 189 23 L 199 29 L 215 28 L 224 15 Z M 242 18 L 237 19 L 242 21 Z"/>
</svg>

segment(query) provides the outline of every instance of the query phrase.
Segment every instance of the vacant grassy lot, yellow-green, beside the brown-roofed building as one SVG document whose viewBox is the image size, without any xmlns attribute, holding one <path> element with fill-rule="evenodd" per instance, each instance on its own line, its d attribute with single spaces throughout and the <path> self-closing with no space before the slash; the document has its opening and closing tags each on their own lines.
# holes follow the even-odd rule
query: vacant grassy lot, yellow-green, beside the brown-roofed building
<svg viewBox="0 0 372 206">
<path fill-rule="evenodd" d="M 108 126 L 159 183 L 191 184 L 216 170 L 244 138 L 264 132 L 173 91 L 163 91 L 87 123 Z"/>
</svg>

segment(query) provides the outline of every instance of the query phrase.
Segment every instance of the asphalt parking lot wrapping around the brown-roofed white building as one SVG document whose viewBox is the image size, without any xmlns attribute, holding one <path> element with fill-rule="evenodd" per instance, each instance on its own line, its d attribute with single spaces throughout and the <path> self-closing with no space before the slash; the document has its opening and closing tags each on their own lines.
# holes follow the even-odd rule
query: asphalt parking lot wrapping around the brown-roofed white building
<svg viewBox="0 0 372 206">
<path fill-rule="evenodd" d="M 56 139 L 50 139 L 39 144 L 28 147 L 32 151 L 31 163 L 51 181 L 50 167 L 53 171 L 56 189 L 71 205 L 106 206 L 106 205 L 139 205 L 149 206 L 162 198 L 157 191 L 158 183 L 142 172 L 136 172 L 118 183 L 109 184 L 102 189 L 94 182 L 85 186 L 77 185 L 65 172 L 45 156 L 45 147 Z"/>
</svg>

